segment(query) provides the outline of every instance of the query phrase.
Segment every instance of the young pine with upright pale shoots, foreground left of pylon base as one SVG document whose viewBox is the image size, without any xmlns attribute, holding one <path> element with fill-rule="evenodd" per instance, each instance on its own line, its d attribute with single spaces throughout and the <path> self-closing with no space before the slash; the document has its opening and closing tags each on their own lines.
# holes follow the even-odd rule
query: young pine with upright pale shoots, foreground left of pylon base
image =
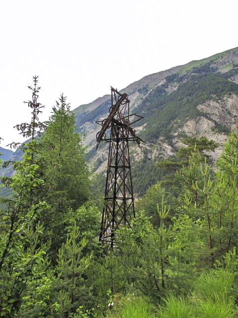
<svg viewBox="0 0 238 318">
<path fill-rule="evenodd" d="M 92 254 L 83 256 L 82 250 L 86 246 L 85 238 L 79 241 L 80 231 L 76 222 L 72 232 L 68 235 L 65 243 L 58 251 L 57 257 L 57 280 L 56 292 L 54 295 L 56 317 L 62 317 L 66 313 L 76 313 L 78 304 L 90 304 L 90 287 L 85 285 L 85 273 L 90 265 Z"/>
</svg>

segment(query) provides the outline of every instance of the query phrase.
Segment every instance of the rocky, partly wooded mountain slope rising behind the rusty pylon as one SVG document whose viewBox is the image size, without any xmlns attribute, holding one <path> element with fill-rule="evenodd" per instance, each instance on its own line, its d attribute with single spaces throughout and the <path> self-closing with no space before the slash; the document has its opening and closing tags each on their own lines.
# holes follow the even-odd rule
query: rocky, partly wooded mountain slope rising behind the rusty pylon
<svg viewBox="0 0 238 318">
<path fill-rule="evenodd" d="M 112 83 L 113 85 L 113 83 Z M 238 47 L 199 61 L 148 75 L 126 88 L 133 113 L 144 116 L 135 126 L 146 141 L 141 149 L 131 145 L 134 189 L 142 195 L 159 179 L 157 162 L 173 155 L 184 136 L 206 136 L 219 143 L 217 159 L 238 118 Z M 87 159 L 93 171 L 103 173 L 107 145 L 96 151 L 95 121 L 107 117 L 110 95 L 73 110 L 76 130 L 86 135 Z"/>
</svg>

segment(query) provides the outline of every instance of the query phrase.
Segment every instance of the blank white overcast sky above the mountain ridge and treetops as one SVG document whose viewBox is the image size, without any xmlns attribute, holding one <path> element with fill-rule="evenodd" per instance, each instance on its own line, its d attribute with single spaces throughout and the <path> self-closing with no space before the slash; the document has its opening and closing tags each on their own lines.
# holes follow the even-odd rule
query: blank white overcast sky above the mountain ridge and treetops
<svg viewBox="0 0 238 318">
<path fill-rule="evenodd" d="M 40 119 L 61 93 L 72 109 L 142 77 L 238 46 L 238 0 L 0 1 L 1 147 L 22 142 L 39 76 Z"/>
</svg>

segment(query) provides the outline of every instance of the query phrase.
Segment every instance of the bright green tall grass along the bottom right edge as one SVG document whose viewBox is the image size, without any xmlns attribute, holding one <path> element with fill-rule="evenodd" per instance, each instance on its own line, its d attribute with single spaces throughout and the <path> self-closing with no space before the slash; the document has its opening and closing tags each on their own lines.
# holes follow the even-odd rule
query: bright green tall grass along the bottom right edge
<svg viewBox="0 0 238 318">
<path fill-rule="evenodd" d="M 186 297 L 168 295 L 159 306 L 135 295 L 117 295 L 106 318 L 238 318 L 235 275 L 225 270 L 202 274 Z"/>
</svg>

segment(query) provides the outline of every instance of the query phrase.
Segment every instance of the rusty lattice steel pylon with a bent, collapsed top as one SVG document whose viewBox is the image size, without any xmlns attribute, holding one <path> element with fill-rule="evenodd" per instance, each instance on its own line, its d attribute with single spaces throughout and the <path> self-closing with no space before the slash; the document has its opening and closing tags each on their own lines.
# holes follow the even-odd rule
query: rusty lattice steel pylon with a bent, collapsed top
<svg viewBox="0 0 238 318">
<path fill-rule="evenodd" d="M 130 119 L 134 118 L 134 121 Z M 111 107 L 107 118 L 97 122 L 102 126 L 97 133 L 97 147 L 101 141 L 109 143 L 104 208 L 99 239 L 106 249 L 115 242 L 116 231 L 122 225 L 131 226 L 135 218 L 134 195 L 131 176 L 129 142 L 138 145 L 142 140 L 136 136 L 132 124 L 143 117 L 130 114 L 130 100 L 126 93 L 111 87 Z M 110 129 L 110 136 L 106 132 Z"/>
</svg>

